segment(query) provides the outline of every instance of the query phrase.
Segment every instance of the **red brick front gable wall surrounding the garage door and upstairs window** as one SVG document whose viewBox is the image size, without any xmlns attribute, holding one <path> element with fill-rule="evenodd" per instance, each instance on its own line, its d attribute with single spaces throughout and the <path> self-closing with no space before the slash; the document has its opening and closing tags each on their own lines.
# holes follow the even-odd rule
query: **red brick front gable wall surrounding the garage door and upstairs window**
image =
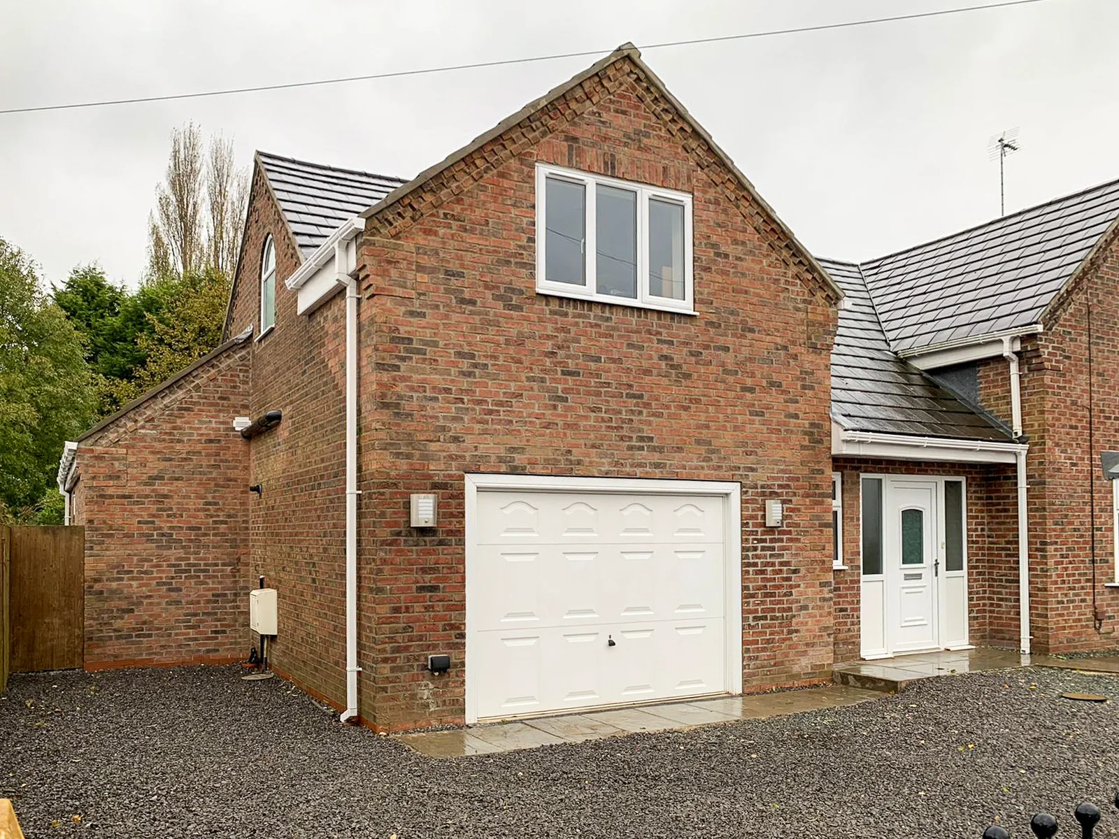
<svg viewBox="0 0 1119 839">
<path fill-rule="evenodd" d="M 666 103 L 624 63 L 605 75 L 363 241 L 361 714 L 379 726 L 463 718 L 463 472 L 741 482 L 746 688 L 829 675 L 835 310 Z M 697 317 L 536 294 L 537 160 L 692 192 Z M 440 496 L 434 536 L 407 526 L 415 491 Z"/>
</svg>

